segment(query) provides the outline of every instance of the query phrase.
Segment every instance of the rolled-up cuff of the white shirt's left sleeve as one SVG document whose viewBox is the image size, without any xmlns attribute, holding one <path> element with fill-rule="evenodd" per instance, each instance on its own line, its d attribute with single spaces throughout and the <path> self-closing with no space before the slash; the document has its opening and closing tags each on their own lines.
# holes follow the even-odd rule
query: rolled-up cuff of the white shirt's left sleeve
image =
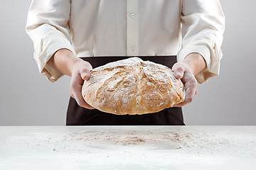
<svg viewBox="0 0 256 170">
<path fill-rule="evenodd" d="M 38 50 L 38 52 L 35 52 L 34 54 L 36 63 L 38 64 L 39 72 L 45 75 L 49 81 L 57 81 L 60 77 L 63 76 L 63 74 L 58 72 L 57 69 L 50 67 L 50 65 L 47 64 L 48 60 L 50 60 L 50 57 L 52 57 L 55 54 L 55 52 L 57 52 L 60 49 L 68 49 L 71 52 L 73 52 L 74 55 L 75 50 L 73 50 L 72 45 L 64 37 L 64 35 L 58 34 L 43 38 L 43 40 L 41 40 L 40 47 L 41 50 Z"/>
</svg>

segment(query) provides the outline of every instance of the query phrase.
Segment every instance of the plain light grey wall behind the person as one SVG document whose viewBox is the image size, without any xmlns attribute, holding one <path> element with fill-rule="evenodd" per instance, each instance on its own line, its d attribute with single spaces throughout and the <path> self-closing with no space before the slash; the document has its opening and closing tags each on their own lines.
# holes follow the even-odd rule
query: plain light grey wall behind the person
<svg viewBox="0 0 256 170">
<path fill-rule="evenodd" d="M 226 18 L 220 76 L 183 107 L 186 125 L 256 125 L 254 0 L 220 0 Z M 50 83 L 25 31 L 30 0 L 0 6 L 0 125 L 65 125 L 70 77 Z"/>
</svg>

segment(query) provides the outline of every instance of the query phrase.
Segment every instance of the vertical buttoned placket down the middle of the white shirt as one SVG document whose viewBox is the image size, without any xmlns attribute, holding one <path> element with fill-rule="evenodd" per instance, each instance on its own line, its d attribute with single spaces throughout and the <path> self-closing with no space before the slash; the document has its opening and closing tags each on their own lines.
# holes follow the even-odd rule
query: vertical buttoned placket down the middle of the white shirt
<svg viewBox="0 0 256 170">
<path fill-rule="evenodd" d="M 139 55 L 139 4 L 127 0 L 127 56 Z"/>
</svg>

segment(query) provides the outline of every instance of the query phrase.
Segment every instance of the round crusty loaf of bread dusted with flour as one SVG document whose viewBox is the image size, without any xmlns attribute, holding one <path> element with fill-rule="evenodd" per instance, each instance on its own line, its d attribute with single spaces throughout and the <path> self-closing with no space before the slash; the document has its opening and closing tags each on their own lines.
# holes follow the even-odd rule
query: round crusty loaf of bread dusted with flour
<svg viewBox="0 0 256 170">
<path fill-rule="evenodd" d="M 156 113 L 184 101 L 183 84 L 161 64 L 130 57 L 92 69 L 82 86 L 85 101 L 106 113 Z"/>
</svg>

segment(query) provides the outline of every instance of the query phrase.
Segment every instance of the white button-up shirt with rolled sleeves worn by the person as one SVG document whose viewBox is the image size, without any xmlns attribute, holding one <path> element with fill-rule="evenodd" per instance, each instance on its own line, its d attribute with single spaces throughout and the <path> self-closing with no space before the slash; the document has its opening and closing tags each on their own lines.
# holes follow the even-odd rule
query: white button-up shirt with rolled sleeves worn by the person
<svg viewBox="0 0 256 170">
<path fill-rule="evenodd" d="M 62 74 L 47 62 L 62 48 L 77 57 L 177 55 L 197 52 L 207 68 L 199 83 L 218 76 L 225 18 L 218 0 L 33 0 L 26 31 L 39 71 Z"/>
</svg>

